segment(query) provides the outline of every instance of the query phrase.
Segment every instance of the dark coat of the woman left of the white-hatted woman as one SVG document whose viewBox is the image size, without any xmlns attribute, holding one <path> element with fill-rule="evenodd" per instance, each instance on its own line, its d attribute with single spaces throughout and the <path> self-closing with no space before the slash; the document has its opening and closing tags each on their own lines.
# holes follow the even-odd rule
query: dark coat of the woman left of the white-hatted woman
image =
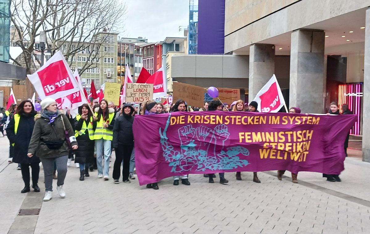
<svg viewBox="0 0 370 234">
<path fill-rule="evenodd" d="M 6 128 L 10 143 L 15 143 L 13 148 L 14 163 L 40 163 L 36 155 L 29 158 L 28 145 L 30 144 L 33 127 L 35 126 L 34 114 L 21 114 L 17 134 L 14 133 L 15 121 L 12 118 Z"/>
</svg>

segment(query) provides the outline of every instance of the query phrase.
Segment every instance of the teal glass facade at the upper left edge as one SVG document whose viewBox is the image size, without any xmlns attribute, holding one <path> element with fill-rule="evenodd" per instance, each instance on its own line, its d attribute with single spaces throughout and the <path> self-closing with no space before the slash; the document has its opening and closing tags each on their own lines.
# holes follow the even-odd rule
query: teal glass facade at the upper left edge
<svg viewBox="0 0 370 234">
<path fill-rule="evenodd" d="M 0 0 L 0 61 L 9 63 L 10 0 Z"/>
</svg>

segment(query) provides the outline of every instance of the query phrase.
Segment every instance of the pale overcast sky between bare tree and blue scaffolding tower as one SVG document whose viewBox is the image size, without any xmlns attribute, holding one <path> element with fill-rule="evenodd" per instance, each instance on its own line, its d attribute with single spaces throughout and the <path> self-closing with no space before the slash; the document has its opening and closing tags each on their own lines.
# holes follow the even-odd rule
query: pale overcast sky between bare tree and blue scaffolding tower
<svg viewBox="0 0 370 234">
<path fill-rule="evenodd" d="M 124 33 L 120 37 L 143 37 L 148 42 L 184 37 L 179 26 L 189 24 L 189 0 L 126 0 Z"/>
</svg>

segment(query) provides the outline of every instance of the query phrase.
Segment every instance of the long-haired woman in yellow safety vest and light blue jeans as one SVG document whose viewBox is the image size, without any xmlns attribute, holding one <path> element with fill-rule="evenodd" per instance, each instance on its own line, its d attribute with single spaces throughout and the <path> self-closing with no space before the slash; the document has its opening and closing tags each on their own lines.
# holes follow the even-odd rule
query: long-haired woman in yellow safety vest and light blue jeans
<svg viewBox="0 0 370 234">
<path fill-rule="evenodd" d="M 103 177 L 104 180 L 109 179 L 109 160 L 111 156 L 111 143 L 113 140 L 113 126 L 115 111 L 113 108 L 108 108 L 108 101 L 102 99 L 99 107 L 95 108 L 95 116 L 97 117 L 96 129 L 94 132 L 94 140 L 96 146 L 96 163 L 98 166 L 98 178 Z M 104 172 L 102 168 L 102 157 L 104 154 Z"/>
</svg>

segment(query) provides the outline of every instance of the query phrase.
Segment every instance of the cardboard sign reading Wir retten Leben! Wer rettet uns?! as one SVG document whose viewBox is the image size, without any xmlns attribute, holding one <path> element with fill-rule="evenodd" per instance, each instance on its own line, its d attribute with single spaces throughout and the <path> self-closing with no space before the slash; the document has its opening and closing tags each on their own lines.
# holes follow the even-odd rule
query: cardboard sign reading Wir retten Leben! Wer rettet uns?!
<svg viewBox="0 0 370 234">
<path fill-rule="evenodd" d="M 149 100 L 153 100 L 153 84 L 126 84 L 126 102 L 143 103 Z"/>
</svg>

